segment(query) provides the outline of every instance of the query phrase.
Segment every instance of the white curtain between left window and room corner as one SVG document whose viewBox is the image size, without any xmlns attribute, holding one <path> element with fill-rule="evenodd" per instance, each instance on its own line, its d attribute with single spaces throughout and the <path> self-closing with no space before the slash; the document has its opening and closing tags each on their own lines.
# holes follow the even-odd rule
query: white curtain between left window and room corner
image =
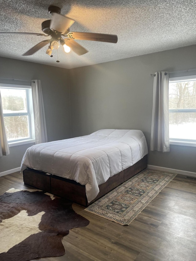
<svg viewBox="0 0 196 261">
<path fill-rule="evenodd" d="M 31 80 L 36 144 L 47 142 L 46 119 L 40 80 Z"/>
</svg>

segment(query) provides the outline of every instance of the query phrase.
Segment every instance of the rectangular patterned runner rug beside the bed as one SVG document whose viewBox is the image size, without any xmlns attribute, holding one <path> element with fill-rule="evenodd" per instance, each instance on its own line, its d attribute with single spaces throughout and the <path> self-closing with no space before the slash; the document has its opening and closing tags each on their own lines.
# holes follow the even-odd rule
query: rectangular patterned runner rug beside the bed
<svg viewBox="0 0 196 261">
<path fill-rule="evenodd" d="M 176 175 L 146 169 L 85 210 L 121 225 L 129 225 Z"/>
</svg>

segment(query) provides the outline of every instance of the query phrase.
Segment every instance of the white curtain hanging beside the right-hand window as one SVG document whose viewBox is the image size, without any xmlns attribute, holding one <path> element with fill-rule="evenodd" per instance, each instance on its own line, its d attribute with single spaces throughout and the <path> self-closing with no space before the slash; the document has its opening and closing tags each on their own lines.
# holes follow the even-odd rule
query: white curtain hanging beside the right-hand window
<svg viewBox="0 0 196 261">
<path fill-rule="evenodd" d="M 156 72 L 153 83 L 151 151 L 169 151 L 169 73 Z"/>
</svg>

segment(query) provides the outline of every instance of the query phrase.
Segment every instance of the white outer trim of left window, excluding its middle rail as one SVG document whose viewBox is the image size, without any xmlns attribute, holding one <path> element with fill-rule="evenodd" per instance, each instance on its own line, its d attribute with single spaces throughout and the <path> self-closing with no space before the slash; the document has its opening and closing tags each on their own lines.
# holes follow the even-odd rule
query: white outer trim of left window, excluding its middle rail
<svg viewBox="0 0 196 261">
<path fill-rule="evenodd" d="M 31 95 L 32 97 L 32 89 L 30 85 L 19 85 L 19 84 L 2 84 L 0 83 L 0 88 L 6 87 L 9 89 L 15 89 L 15 88 L 19 88 L 19 89 L 28 89 L 28 96 Z M 33 115 L 33 103 L 32 103 L 32 99 L 29 99 L 28 97 L 28 105 L 29 105 L 29 113 L 32 116 Z M 31 143 L 35 143 L 35 127 L 34 127 L 34 117 L 30 117 L 30 121 L 31 121 L 31 138 L 27 138 L 24 140 L 10 140 L 8 141 L 8 145 L 9 147 L 13 147 L 13 146 L 18 146 L 18 145 L 23 145 L 23 144 L 31 144 Z"/>
</svg>

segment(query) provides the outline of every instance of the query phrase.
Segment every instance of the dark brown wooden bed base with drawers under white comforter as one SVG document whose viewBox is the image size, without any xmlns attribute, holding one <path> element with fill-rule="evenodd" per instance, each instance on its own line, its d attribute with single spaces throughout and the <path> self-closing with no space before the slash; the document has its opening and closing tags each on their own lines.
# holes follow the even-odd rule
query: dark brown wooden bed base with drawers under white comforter
<svg viewBox="0 0 196 261">
<path fill-rule="evenodd" d="M 100 192 L 90 203 L 88 203 L 86 198 L 85 185 L 81 185 L 74 180 L 52 174 L 46 174 L 42 171 L 33 170 L 30 168 L 23 171 L 23 180 L 25 185 L 38 188 L 59 197 L 64 197 L 72 202 L 87 207 L 96 199 L 104 196 L 107 192 L 127 181 L 141 170 L 144 170 L 146 167 L 147 155 L 145 155 L 144 158 L 135 163 L 133 166 L 121 171 L 113 177 L 110 177 L 105 183 L 99 185 Z"/>
</svg>

